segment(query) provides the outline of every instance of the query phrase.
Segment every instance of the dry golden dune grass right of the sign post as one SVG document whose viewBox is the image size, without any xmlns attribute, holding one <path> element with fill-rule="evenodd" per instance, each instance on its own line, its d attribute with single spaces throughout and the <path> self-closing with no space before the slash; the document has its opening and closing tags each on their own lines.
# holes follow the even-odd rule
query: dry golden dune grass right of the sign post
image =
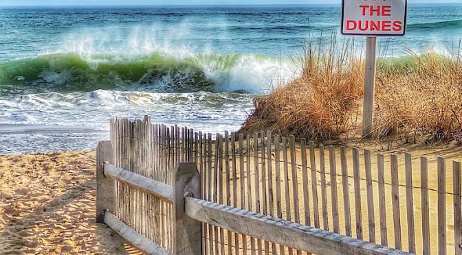
<svg viewBox="0 0 462 255">
<path fill-rule="evenodd" d="M 462 56 L 409 53 L 412 66 L 379 69 L 375 137 L 462 143 Z"/>
</svg>

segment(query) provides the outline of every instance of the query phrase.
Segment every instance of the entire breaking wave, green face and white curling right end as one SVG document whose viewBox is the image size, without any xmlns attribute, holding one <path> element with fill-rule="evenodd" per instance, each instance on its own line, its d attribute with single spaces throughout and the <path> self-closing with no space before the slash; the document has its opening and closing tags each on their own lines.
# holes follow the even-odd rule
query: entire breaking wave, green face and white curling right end
<svg viewBox="0 0 462 255">
<path fill-rule="evenodd" d="M 275 79 L 292 77 L 294 68 L 289 61 L 254 55 L 202 54 L 176 59 L 153 53 L 121 60 L 111 55 L 84 58 L 76 53 L 56 53 L 0 63 L 0 85 L 13 85 L 28 93 L 97 89 L 258 93 L 269 89 Z M 1 90 L 5 88 L 0 86 Z"/>
</svg>

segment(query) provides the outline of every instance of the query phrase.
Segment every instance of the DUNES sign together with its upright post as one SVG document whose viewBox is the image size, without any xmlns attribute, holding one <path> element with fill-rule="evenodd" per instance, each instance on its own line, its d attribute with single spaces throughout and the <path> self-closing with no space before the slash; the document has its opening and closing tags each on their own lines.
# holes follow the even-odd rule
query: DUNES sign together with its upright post
<svg viewBox="0 0 462 255">
<path fill-rule="evenodd" d="M 373 132 L 377 36 L 406 34 L 407 0 L 343 0 L 342 34 L 367 36 L 362 135 Z"/>
</svg>

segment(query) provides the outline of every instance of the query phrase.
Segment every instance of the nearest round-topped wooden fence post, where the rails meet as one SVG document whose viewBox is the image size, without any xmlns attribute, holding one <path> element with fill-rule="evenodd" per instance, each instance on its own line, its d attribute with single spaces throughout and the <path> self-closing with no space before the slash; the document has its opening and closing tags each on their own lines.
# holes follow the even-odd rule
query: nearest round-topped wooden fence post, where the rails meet
<svg viewBox="0 0 462 255">
<path fill-rule="evenodd" d="M 201 177 L 195 163 L 177 165 L 173 188 L 173 254 L 202 254 L 202 224 L 184 211 L 184 197 L 201 199 Z"/>
</svg>

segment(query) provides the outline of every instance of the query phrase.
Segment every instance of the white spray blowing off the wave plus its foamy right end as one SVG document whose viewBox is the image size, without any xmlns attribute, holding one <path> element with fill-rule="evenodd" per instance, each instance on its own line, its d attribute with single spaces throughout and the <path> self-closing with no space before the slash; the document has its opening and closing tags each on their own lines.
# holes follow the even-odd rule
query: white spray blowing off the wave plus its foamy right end
<svg viewBox="0 0 462 255">
<path fill-rule="evenodd" d="M 217 22 L 216 26 L 226 27 L 227 24 L 222 21 Z M 228 35 L 220 32 L 217 36 L 225 38 Z M 176 61 L 194 60 L 195 64 L 199 64 L 205 71 L 206 77 L 215 83 L 215 90 L 219 91 L 245 90 L 251 93 L 266 93 L 275 84 L 287 83 L 300 73 L 289 58 L 270 58 L 252 54 L 240 55 L 237 60 L 232 60 L 234 64 L 229 66 L 227 61 L 231 61 L 232 56 L 214 54 L 212 43 L 206 43 L 200 48 L 198 45 L 184 44 L 184 41 L 192 37 L 197 35 L 192 32 L 191 25 L 186 21 L 175 25 L 135 25 L 122 29 L 87 27 L 64 36 L 61 47 L 55 53 L 77 53 L 89 62 L 93 69 L 96 69 L 99 63 L 140 60 L 152 54 Z M 65 73 L 43 73 L 43 76 L 50 82 L 69 80 Z M 168 77 L 164 79 L 167 80 L 163 83 L 168 84 Z"/>
</svg>

